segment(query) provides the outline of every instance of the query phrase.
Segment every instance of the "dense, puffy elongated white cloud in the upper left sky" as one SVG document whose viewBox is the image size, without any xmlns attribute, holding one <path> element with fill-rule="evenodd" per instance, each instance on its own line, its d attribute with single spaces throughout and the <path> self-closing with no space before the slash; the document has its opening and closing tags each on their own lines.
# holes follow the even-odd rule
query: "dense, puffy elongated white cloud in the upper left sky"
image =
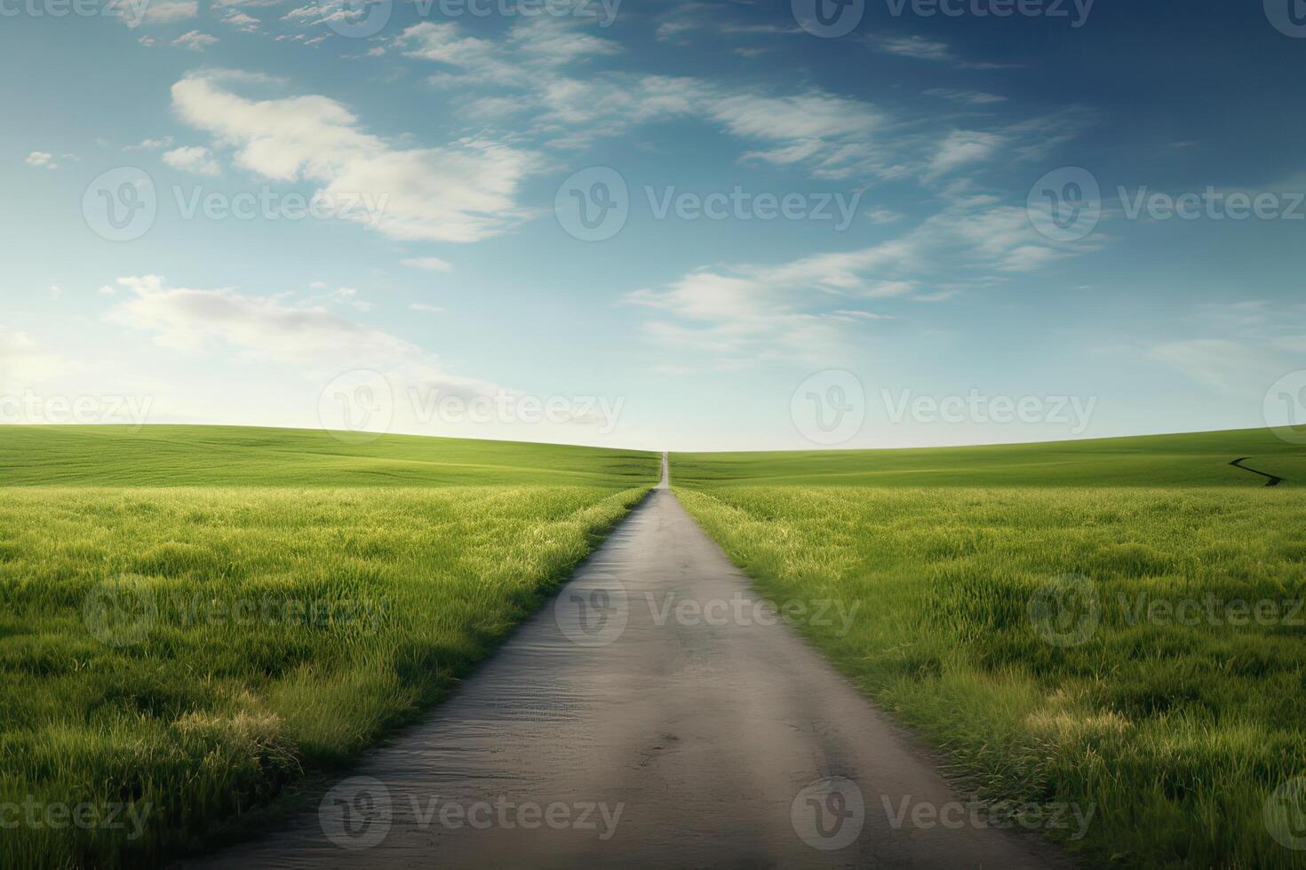
<svg viewBox="0 0 1306 870">
<path fill-rule="evenodd" d="M 402 149 L 363 132 L 341 103 L 320 95 L 251 100 L 222 86 L 231 74 L 192 74 L 172 86 L 182 119 L 236 149 L 236 163 L 266 179 L 323 184 L 337 200 L 384 201 L 376 228 L 409 241 L 477 241 L 526 217 L 517 187 L 532 155 L 468 138 Z"/>
</svg>

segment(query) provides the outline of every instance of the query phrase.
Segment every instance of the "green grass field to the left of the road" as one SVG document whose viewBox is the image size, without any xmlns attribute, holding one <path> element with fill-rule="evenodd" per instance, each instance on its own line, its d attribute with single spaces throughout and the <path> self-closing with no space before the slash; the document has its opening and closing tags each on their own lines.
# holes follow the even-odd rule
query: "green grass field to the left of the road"
<svg viewBox="0 0 1306 870">
<path fill-rule="evenodd" d="M 153 865 L 257 823 L 438 700 L 657 476 L 547 445 L 0 429 L 0 803 L 104 820 L 38 814 L 0 866 Z"/>
</svg>

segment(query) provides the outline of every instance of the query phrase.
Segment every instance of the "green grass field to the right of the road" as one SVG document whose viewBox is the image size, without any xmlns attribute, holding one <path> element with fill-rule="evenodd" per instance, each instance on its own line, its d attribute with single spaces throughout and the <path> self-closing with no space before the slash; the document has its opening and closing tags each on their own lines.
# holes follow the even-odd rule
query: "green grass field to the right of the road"
<svg viewBox="0 0 1306 870">
<path fill-rule="evenodd" d="M 1306 865 L 1264 814 L 1306 775 L 1306 447 L 673 454 L 671 475 L 777 605 L 857 608 L 798 627 L 994 806 L 1094 807 L 1067 843 L 1094 865 Z"/>
</svg>

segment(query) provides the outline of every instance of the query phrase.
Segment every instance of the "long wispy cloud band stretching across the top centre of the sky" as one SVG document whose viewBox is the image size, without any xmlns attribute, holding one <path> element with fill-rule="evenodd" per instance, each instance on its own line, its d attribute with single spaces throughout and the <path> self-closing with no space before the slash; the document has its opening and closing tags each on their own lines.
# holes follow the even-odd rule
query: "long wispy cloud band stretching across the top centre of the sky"
<svg viewBox="0 0 1306 870">
<path fill-rule="evenodd" d="M 883 47 L 960 64 L 947 44 L 921 38 L 891 38 Z M 618 52 L 615 43 L 556 20 L 518 22 L 499 38 L 473 35 L 452 21 L 422 22 L 374 52 L 438 64 L 431 81 L 456 89 L 456 106 L 471 121 L 511 119 L 513 133 L 532 133 L 549 147 L 573 151 L 640 124 L 697 119 L 747 142 L 741 159 L 801 168 L 816 179 L 931 183 L 991 159 L 1008 141 L 1013 158 L 1030 159 L 1077 133 L 1081 121 L 1067 110 L 994 130 L 938 129 L 934 116 L 912 119 L 902 110 L 891 112 L 819 89 L 777 94 L 705 78 L 596 68 Z M 588 68 L 577 73 L 582 64 Z M 968 106 L 1003 99 L 974 90 L 931 93 Z"/>
</svg>

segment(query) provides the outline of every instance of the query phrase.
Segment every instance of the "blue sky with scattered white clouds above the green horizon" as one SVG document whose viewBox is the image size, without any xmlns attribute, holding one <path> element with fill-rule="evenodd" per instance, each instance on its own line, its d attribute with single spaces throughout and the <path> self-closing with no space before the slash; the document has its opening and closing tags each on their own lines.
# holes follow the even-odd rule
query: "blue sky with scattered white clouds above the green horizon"
<svg viewBox="0 0 1306 870">
<path fill-rule="evenodd" d="M 1306 412 L 1288 0 L 116 3 L 0 4 L 7 421 L 801 449 Z"/>
</svg>

